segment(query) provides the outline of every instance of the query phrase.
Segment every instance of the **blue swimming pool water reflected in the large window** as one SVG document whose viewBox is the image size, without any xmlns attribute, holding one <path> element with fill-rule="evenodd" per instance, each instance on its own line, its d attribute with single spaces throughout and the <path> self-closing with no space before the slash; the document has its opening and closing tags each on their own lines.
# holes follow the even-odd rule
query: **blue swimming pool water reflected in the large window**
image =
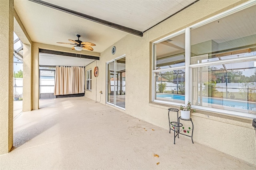
<svg viewBox="0 0 256 170">
<path fill-rule="evenodd" d="M 176 95 L 176 94 L 161 94 L 161 95 L 156 95 L 156 97 L 163 97 L 166 99 L 176 99 L 176 100 L 183 100 L 183 101 L 185 100 L 184 95 Z M 200 101 L 200 99 L 198 99 L 198 101 Z M 202 102 L 215 104 L 215 105 L 228 106 L 228 107 L 235 107 L 235 108 L 246 109 L 246 110 L 255 110 L 256 109 L 255 103 L 249 103 L 249 102 L 244 102 L 244 101 L 203 97 Z"/>
</svg>

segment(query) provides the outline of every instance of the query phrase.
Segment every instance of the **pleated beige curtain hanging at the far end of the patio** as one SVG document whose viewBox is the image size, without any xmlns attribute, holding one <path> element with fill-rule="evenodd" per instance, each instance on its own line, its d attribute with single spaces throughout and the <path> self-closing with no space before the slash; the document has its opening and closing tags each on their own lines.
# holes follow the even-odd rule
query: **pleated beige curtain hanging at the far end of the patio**
<svg viewBox="0 0 256 170">
<path fill-rule="evenodd" d="M 78 93 L 84 93 L 84 68 L 56 66 L 54 95 Z"/>
</svg>

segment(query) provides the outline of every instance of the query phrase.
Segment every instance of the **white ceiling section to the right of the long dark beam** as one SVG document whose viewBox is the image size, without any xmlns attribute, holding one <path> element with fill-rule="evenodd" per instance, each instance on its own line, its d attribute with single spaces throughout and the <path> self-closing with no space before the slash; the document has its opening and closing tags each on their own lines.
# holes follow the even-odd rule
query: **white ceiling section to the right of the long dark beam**
<svg viewBox="0 0 256 170">
<path fill-rule="evenodd" d="M 196 0 L 42 0 L 144 32 Z"/>
</svg>

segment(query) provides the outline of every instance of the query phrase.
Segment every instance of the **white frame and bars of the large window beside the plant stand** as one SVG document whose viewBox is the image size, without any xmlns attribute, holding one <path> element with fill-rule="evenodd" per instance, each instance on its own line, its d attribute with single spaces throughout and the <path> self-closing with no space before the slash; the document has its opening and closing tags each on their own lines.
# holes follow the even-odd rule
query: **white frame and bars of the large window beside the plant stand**
<svg viewBox="0 0 256 170">
<path fill-rule="evenodd" d="M 189 26 L 183 30 L 180 30 L 174 34 L 171 34 L 169 36 L 166 36 L 164 38 L 161 38 L 160 40 L 157 40 L 155 42 L 152 43 L 152 101 L 153 102 L 157 102 L 157 103 L 165 103 L 165 104 L 172 104 L 172 105 L 177 105 L 180 106 L 180 103 L 174 103 L 174 102 L 170 102 L 170 101 L 161 101 L 161 100 L 156 100 L 155 99 L 155 93 L 156 93 L 156 89 L 155 89 L 155 74 L 156 72 L 160 72 L 160 71 L 170 71 L 170 70 L 174 70 L 174 69 L 184 69 L 185 68 L 185 104 L 188 103 L 188 101 L 191 101 L 192 96 L 192 68 L 195 67 L 202 67 L 202 66 L 209 66 L 209 65 L 214 65 L 214 64 L 222 64 L 222 63 L 236 63 L 239 61 L 255 61 L 256 60 L 256 56 L 252 56 L 252 57 L 246 57 L 246 58 L 236 58 L 236 59 L 225 59 L 222 61 L 211 61 L 211 62 L 207 62 L 207 63 L 198 63 L 198 64 L 191 64 L 190 65 L 190 30 L 191 29 L 195 29 L 198 28 L 200 26 L 204 26 L 210 22 L 213 22 L 215 20 L 218 20 L 220 18 L 224 18 L 225 16 L 234 14 L 236 12 L 239 12 L 240 10 L 244 10 L 246 8 L 249 8 L 251 6 L 256 5 L 256 1 L 255 0 L 250 0 L 248 2 L 245 2 L 244 4 L 241 4 L 239 6 L 236 6 L 230 10 L 227 10 L 225 12 L 222 12 L 216 16 L 212 16 L 206 20 L 203 20 L 201 22 L 198 22 L 192 26 Z M 185 32 L 185 66 L 184 67 L 176 67 L 176 68 L 172 68 L 172 69 L 159 69 L 159 70 L 154 70 L 155 68 L 155 58 L 154 56 L 156 55 L 156 48 L 155 45 L 156 43 L 160 43 L 162 41 L 168 40 L 174 36 L 178 36 L 180 34 L 183 34 L 183 32 Z M 214 112 L 218 112 L 218 113 L 224 113 L 224 114 L 228 114 L 228 115 L 236 115 L 236 116 L 241 116 L 241 117 L 248 117 L 248 118 L 256 118 L 256 115 L 253 114 L 247 114 L 247 113 L 241 113 L 241 112 L 235 112 L 235 111 L 227 111 L 227 110 L 222 110 L 222 109 L 215 109 L 215 108 L 210 108 L 210 107 L 202 107 L 202 106 L 196 106 L 196 105 L 192 105 L 192 107 L 196 108 L 196 109 L 202 109 L 202 110 L 207 110 L 207 111 L 214 111 Z"/>
</svg>

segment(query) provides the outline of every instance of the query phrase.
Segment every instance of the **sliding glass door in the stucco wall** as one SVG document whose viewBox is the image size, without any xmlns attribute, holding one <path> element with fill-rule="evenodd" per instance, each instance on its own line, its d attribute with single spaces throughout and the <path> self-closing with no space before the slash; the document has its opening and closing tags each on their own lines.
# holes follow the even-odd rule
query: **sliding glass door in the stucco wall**
<svg viewBox="0 0 256 170">
<path fill-rule="evenodd" d="M 125 109 L 125 57 L 110 61 L 106 66 L 106 103 Z"/>
</svg>

